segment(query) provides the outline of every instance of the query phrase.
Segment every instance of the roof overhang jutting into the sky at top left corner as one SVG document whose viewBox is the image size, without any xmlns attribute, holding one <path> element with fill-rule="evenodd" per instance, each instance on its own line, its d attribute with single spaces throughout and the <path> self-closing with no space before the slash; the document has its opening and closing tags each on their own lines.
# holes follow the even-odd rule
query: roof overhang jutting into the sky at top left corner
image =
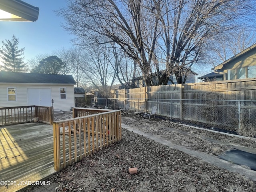
<svg viewBox="0 0 256 192">
<path fill-rule="evenodd" d="M 38 20 L 39 8 L 21 0 L 1 0 L 1 21 L 36 21 Z"/>
</svg>

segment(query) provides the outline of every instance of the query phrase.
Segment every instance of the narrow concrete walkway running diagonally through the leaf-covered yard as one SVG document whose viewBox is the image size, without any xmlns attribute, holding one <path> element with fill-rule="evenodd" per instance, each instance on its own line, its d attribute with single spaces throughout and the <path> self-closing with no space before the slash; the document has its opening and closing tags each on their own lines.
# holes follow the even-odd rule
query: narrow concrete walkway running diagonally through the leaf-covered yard
<svg viewBox="0 0 256 192">
<path fill-rule="evenodd" d="M 208 154 L 203 153 L 203 152 L 194 151 L 194 150 L 184 148 L 182 146 L 173 144 L 172 142 L 170 142 L 168 140 L 162 140 L 162 139 L 160 139 L 156 136 L 153 136 L 151 134 L 148 134 L 148 133 L 142 132 L 140 130 L 136 130 L 134 128 L 131 128 L 131 127 L 125 125 L 125 124 L 122 124 L 122 128 L 125 128 L 129 131 L 132 131 L 132 132 L 136 133 L 136 134 L 143 135 L 146 138 L 154 140 L 155 142 L 158 142 L 160 144 L 164 144 L 164 145 L 166 145 L 170 148 L 174 148 L 174 149 L 180 150 L 180 151 L 182 151 L 186 154 L 189 154 L 191 156 L 200 158 L 201 160 L 203 160 L 205 162 L 208 162 L 210 164 L 216 165 L 220 168 L 224 168 L 224 169 L 229 170 L 231 172 L 236 172 L 236 173 L 242 174 L 242 175 L 246 176 L 247 178 L 250 178 L 251 180 L 256 181 L 256 171 L 244 168 L 244 167 L 239 166 L 237 164 L 231 163 L 231 162 L 226 161 L 226 160 L 222 160 L 220 158 L 208 155 Z"/>
</svg>

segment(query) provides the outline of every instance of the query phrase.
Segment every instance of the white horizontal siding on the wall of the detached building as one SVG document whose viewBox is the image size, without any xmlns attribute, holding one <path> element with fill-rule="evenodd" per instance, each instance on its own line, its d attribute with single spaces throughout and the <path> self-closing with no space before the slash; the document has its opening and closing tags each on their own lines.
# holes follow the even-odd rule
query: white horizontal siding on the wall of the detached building
<svg viewBox="0 0 256 192">
<path fill-rule="evenodd" d="M 16 88 L 16 101 L 8 102 L 7 88 L 15 87 Z M 66 99 L 60 99 L 60 88 L 66 88 Z M 15 107 L 15 106 L 27 106 L 28 105 L 28 88 L 51 88 L 52 99 L 54 100 L 54 108 L 60 109 L 63 111 L 70 110 L 70 107 L 74 107 L 74 85 L 36 85 L 36 84 L 0 84 L 0 107 Z"/>
</svg>

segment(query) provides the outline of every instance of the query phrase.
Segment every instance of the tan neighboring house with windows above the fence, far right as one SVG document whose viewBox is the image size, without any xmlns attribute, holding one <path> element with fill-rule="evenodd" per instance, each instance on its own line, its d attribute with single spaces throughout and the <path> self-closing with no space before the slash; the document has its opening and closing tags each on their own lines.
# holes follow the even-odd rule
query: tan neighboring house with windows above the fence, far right
<svg viewBox="0 0 256 192">
<path fill-rule="evenodd" d="M 256 78 L 256 44 L 212 68 L 223 80 Z"/>
</svg>

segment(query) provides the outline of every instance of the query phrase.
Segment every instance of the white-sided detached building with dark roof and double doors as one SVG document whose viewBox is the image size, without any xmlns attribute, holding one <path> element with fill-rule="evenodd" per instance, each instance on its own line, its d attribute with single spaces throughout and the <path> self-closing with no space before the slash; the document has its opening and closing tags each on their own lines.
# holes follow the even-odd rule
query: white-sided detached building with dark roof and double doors
<svg viewBox="0 0 256 192">
<path fill-rule="evenodd" d="M 72 75 L 0 72 L 0 107 L 53 105 L 70 110 L 75 84 Z"/>
</svg>

